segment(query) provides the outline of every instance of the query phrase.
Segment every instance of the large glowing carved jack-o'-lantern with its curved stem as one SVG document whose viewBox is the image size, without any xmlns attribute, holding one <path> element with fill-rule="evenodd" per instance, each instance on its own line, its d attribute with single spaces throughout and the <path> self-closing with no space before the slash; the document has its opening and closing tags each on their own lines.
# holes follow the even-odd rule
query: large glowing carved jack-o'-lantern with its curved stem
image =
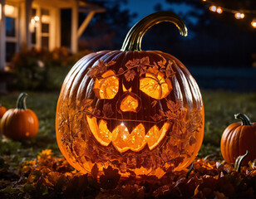
<svg viewBox="0 0 256 199">
<path fill-rule="evenodd" d="M 190 72 L 174 56 L 141 51 L 158 22 L 186 27 L 172 12 L 156 12 L 131 28 L 121 51 L 83 57 L 66 76 L 57 103 L 57 143 L 81 172 L 96 164 L 122 176 L 161 177 L 193 162 L 204 135 L 204 106 Z"/>
</svg>

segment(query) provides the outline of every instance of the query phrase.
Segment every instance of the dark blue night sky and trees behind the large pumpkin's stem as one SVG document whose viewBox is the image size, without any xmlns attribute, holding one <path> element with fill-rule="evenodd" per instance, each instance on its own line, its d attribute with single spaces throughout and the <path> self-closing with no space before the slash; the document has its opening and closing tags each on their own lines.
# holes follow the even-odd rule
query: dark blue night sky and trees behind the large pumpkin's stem
<svg viewBox="0 0 256 199">
<path fill-rule="evenodd" d="M 143 50 L 165 51 L 177 57 L 190 69 L 201 87 L 256 90 L 256 28 L 250 24 L 256 18 L 255 0 L 212 1 L 216 6 L 254 12 L 245 14 L 241 20 L 235 19 L 234 13 L 210 12 L 211 4 L 202 0 L 88 2 L 105 7 L 106 12 L 98 13 L 92 19 L 80 38 L 80 50 L 119 50 L 135 22 L 152 12 L 172 11 L 185 21 L 189 36 L 180 36 L 175 25 L 163 22 L 145 33 Z M 62 10 L 62 22 L 70 24 L 70 17 L 69 10 Z M 85 17 L 86 14 L 80 13 L 80 23 Z M 62 25 L 62 28 L 66 27 Z M 70 43 L 65 36 L 62 41 L 64 46 Z"/>
</svg>

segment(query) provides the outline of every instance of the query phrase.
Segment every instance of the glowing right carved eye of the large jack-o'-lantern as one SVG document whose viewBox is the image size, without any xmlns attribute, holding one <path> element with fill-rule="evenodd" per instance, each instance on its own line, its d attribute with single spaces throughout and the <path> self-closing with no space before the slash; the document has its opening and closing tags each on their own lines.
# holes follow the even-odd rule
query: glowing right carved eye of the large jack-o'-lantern
<svg viewBox="0 0 256 199">
<path fill-rule="evenodd" d="M 163 99 L 170 94 L 172 85 L 163 73 L 149 69 L 145 77 L 140 78 L 140 90 L 154 99 Z"/>
</svg>

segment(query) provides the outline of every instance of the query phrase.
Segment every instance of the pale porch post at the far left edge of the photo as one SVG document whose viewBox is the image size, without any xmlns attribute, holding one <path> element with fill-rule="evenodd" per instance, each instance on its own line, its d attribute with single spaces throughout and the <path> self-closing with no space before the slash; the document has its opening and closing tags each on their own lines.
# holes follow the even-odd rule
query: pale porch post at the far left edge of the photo
<svg viewBox="0 0 256 199">
<path fill-rule="evenodd" d="M 0 11 L 0 70 L 4 70 L 5 68 L 5 56 L 6 56 L 6 36 L 5 36 L 5 13 L 4 6 L 5 0 L 0 0 L 1 3 L 1 11 Z"/>
</svg>

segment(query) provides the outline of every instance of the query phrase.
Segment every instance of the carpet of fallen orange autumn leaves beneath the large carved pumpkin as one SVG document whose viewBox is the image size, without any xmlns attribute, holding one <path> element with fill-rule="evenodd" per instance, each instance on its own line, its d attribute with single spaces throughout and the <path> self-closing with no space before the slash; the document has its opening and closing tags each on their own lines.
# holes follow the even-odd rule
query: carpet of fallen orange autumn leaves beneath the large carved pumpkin
<svg viewBox="0 0 256 199">
<path fill-rule="evenodd" d="M 238 172 L 227 163 L 197 158 L 193 170 L 122 178 L 112 167 L 81 174 L 43 150 L 15 171 L 0 169 L 0 198 L 255 198 L 256 161 Z"/>
</svg>

